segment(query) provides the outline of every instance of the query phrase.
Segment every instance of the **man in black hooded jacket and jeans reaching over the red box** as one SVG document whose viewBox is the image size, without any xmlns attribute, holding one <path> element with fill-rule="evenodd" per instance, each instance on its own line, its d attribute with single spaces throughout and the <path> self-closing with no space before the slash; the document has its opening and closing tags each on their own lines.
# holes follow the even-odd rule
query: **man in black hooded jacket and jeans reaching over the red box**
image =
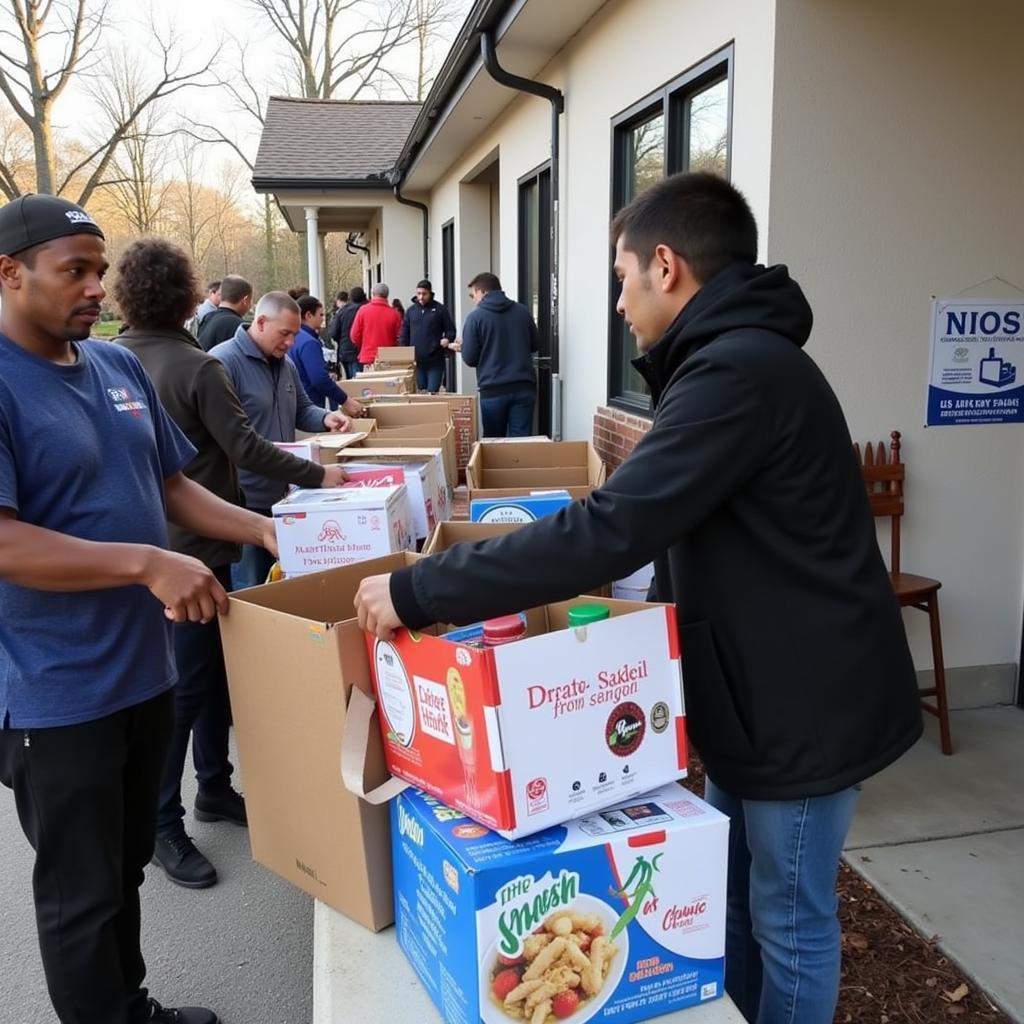
<svg viewBox="0 0 1024 1024">
<path fill-rule="evenodd" d="M 359 624 L 489 618 L 654 559 L 707 796 L 732 822 L 726 988 L 751 1022 L 830 1024 L 859 783 L 923 728 L 900 610 L 843 412 L 803 351 L 811 309 L 784 266 L 756 265 L 743 197 L 675 175 L 611 236 L 650 430 L 585 501 L 368 578 Z"/>
</svg>

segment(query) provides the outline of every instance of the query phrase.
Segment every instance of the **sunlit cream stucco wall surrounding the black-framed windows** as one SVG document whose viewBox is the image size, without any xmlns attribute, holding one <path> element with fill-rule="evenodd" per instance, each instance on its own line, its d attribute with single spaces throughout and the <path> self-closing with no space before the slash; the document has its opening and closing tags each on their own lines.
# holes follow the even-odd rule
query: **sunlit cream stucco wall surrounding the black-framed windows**
<svg viewBox="0 0 1024 1024">
<path fill-rule="evenodd" d="M 729 5 L 716 0 L 608 3 L 538 76 L 565 93 L 560 332 L 566 438 L 589 437 L 595 407 L 607 398 L 611 119 L 735 40 L 732 174 L 765 220 L 773 9 L 774 0 L 735 0 Z M 550 156 L 548 102 L 532 96 L 516 97 L 512 92 L 509 95 L 509 106 L 477 143 L 455 161 L 430 198 L 431 267 L 438 290 L 440 228 L 456 218 L 459 300 L 455 312 L 459 323 L 468 311 L 462 286 L 474 272 L 484 269 L 473 261 L 479 246 L 466 245 L 467 233 L 478 240 L 486 230 L 480 219 L 471 225 L 460 223 L 460 183 L 472 178 L 481 162 L 497 151 L 501 165 L 501 258 L 500 265 L 490 269 L 514 297 L 518 180 Z"/>
</svg>

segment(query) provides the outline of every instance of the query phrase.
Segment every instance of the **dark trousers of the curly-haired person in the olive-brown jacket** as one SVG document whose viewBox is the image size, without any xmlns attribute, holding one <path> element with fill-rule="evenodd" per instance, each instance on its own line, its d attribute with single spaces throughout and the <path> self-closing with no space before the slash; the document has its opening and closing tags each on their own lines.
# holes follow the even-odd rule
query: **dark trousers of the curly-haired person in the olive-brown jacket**
<svg viewBox="0 0 1024 1024">
<path fill-rule="evenodd" d="M 229 565 L 213 570 L 224 590 L 231 589 Z M 201 793 L 223 796 L 231 785 L 231 762 L 227 759 L 230 702 L 220 626 L 210 623 L 174 624 L 174 660 L 178 683 L 174 687 L 174 732 L 167 764 L 160 782 L 160 813 L 157 831 L 173 833 L 181 827 L 181 773 L 185 767 L 188 736 L 193 740 L 193 763 Z"/>
</svg>

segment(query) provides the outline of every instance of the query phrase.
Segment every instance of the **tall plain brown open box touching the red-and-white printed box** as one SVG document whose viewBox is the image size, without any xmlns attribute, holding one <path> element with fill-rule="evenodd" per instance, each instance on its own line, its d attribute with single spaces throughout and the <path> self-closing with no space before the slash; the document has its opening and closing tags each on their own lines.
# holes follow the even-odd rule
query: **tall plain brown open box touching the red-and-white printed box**
<svg viewBox="0 0 1024 1024">
<path fill-rule="evenodd" d="M 390 827 L 342 784 L 353 689 L 373 695 L 352 599 L 365 575 L 416 560 L 398 554 L 229 594 L 220 616 L 253 857 L 372 931 L 394 920 Z M 364 784 L 387 779 L 369 735 Z"/>
</svg>

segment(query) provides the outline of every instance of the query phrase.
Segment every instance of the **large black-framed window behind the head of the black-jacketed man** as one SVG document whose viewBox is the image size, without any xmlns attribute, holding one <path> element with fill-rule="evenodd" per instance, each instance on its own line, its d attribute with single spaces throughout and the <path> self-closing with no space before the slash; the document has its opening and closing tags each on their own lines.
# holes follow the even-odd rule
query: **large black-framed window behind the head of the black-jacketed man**
<svg viewBox="0 0 1024 1024">
<path fill-rule="evenodd" d="M 729 176 L 731 83 L 729 46 L 612 119 L 612 215 L 668 174 Z M 649 414 L 647 385 L 632 366 L 636 343 L 615 312 L 614 274 L 610 294 L 608 401 Z"/>
</svg>

